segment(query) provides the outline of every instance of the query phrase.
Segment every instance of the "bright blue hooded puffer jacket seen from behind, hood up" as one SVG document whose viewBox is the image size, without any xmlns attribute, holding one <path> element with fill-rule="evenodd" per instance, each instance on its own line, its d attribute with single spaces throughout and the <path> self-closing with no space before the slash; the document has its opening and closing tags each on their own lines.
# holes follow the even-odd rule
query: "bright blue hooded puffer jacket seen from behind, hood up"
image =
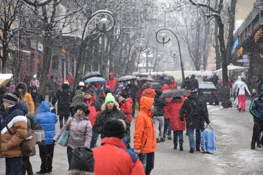
<svg viewBox="0 0 263 175">
<path fill-rule="evenodd" d="M 50 112 L 47 101 L 42 101 L 38 107 L 38 114 L 34 120 L 44 129 L 45 140 L 43 144 L 52 144 L 53 137 L 56 135 L 55 124 L 58 121 L 56 114 Z"/>
</svg>

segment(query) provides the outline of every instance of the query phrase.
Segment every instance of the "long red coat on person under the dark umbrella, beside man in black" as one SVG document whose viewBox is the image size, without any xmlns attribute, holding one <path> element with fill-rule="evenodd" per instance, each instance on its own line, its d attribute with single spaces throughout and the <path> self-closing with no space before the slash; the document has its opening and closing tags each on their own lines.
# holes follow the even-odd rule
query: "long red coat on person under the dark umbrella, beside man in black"
<svg viewBox="0 0 263 175">
<path fill-rule="evenodd" d="M 180 121 L 180 109 L 184 104 L 185 97 L 181 96 L 182 100 L 177 99 L 176 102 L 171 102 L 168 104 L 168 113 L 170 114 L 170 124 L 171 130 L 173 131 L 183 131 L 186 130 L 186 118 L 184 117 L 184 123 Z"/>
</svg>

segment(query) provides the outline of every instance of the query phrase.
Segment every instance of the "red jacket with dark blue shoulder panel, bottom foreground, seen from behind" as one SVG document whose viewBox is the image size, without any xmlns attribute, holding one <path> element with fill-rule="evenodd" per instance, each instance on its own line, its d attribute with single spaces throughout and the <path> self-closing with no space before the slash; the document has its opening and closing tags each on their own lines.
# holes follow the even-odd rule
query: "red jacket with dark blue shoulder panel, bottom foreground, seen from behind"
<svg viewBox="0 0 263 175">
<path fill-rule="evenodd" d="M 94 174 L 105 175 L 144 175 L 144 168 L 139 158 L 128 151 L 122 139 L 103 138 L 101 146 L 93 150 L 95 159 Z"/>
</svg>

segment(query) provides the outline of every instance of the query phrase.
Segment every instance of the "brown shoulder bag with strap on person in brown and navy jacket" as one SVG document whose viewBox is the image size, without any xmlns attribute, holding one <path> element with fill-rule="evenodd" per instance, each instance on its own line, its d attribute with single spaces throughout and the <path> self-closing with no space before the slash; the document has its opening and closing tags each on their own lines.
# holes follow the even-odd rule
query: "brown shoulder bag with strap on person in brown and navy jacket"
<svg viewBox="0 0 263 175">
<path fill-rule="evenodd" d="M 10 131 L 10 128 L 7 126 L 7 124 L 6 124 L 6 129 L 9 132 L 9 134 L 13 137 L 14 135 Z M 36 142 L 37 142 L 37 138 L 35 136 L 34 131 L 30 128 L 27 129 L 27 137 L 20 144 L 22 156 L 27 156 L 28 154 L 30 154 L 35 148 Z"/>
</svg>

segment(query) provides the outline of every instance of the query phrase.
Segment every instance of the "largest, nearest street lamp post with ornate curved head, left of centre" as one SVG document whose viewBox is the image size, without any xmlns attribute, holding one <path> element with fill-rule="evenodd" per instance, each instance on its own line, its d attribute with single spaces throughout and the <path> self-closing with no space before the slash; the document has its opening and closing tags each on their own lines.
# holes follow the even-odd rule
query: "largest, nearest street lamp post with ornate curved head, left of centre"
<svg viewBox="0 0 263 175">
<path fill-rule="evenodd" d="M 115 19 L 113 14 L 108 10 L 98 10 L 92 14 L 85 26 L 82 33 L 82 42 L 80 45 L 79 57 L 76 62 L 76 76 L 74 79 L 74 89 L 77 87 L 78 81 L 81 79 L 83 73 L 83 65 L 81 62 L 84 62 L 85 50 L 87 47 L 88 41 L 92 38 L 104 35 L 105 33 L 111 31 L 115 26 Z M 104 36 L 102 36 L 103 40 Z M 103 50 L 103 49 L 102 49 Z"/>
</svg>

